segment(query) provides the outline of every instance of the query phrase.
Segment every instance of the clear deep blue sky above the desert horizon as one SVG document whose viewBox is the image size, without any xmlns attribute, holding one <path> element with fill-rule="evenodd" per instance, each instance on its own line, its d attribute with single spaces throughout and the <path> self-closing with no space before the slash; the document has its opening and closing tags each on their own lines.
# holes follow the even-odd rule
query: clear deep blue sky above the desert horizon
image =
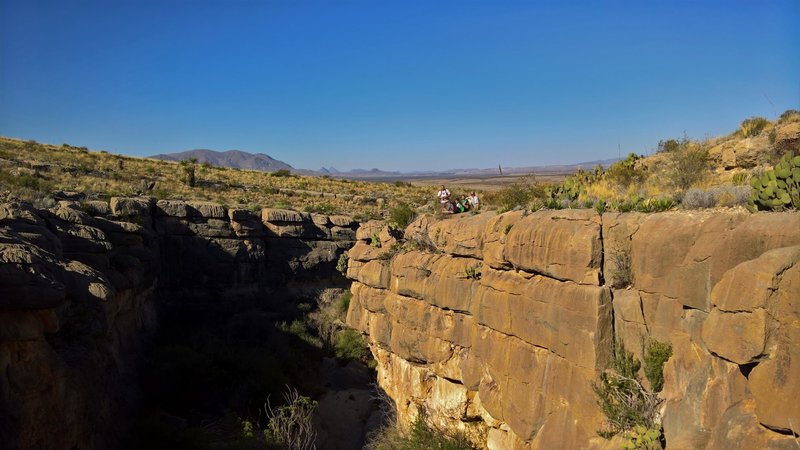
<svg viewBox="0 0 800 450">
<path fill-rule="evenodd" d="M 0 0 L 0 135 L 308 169 L 604 159 L 800 109 L 798 24 L 798 0 Z"/>
</svg>

